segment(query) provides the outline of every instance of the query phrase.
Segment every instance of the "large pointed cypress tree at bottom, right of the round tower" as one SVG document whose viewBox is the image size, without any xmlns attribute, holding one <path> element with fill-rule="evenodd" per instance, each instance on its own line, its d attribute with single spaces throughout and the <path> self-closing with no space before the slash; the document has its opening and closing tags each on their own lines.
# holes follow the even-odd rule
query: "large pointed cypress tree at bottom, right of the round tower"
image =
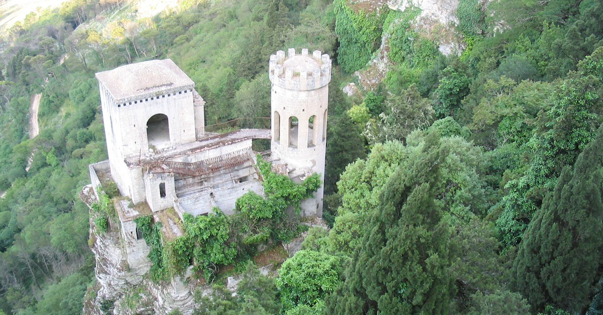
<svg viewBox="0 0 603 315">
<path fill-rule="evenodd" d="M 452 281 L 450 232 L 434 202 L 447 155 L 435 133 L 390 177 L 365 221 L 346 279 L 326 299 L 326 314 L 447 314 Z"/>
</svg>

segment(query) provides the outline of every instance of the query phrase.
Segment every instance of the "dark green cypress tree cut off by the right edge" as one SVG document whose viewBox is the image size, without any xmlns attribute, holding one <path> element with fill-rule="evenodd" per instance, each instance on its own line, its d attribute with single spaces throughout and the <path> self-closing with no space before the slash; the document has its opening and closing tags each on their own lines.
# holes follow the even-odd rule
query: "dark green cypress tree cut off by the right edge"
<svg viewBox="0 0 603 315">
<path fill-rule="evenodd" d="M 546 196 L 520 245 L 514 286 L 534 308 L 584 314 L 603 275 L 603 127 Z"/>
</svg>

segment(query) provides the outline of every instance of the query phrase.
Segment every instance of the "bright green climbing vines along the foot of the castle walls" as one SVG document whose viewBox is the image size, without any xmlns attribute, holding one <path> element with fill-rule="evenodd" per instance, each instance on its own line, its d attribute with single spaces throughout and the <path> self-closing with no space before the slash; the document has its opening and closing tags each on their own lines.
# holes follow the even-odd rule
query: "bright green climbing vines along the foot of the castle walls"
<svg viewBox="0 0 603 315">
<path fill-rule="evenodd" d="M 182 274 L 191 259 L 194 269 L 211 279 L 219 266 L 250 258 L 258 244 L 289 241 L 307 229 L 297 219 L 289 219 L 286 209 L 291 205 L 297 218 L 300 200 L 311 197 L 320 188 L 320 175 L 313 174 L 297 184 L 288 176 L 272 172 L 270 163 L 260 156 L 257 167 L 264 177 L 265 198 L 249 191 L 236 200 L 235 214 L 230 216 L 218 208 L 197 217 L 185 213 L 184 235 L 174 240 L 162 238 L 161 223 L 153 224 L 151 215 L 134 219 L 150 247 L 151 279 L 158 281 Z"/>
</svg>

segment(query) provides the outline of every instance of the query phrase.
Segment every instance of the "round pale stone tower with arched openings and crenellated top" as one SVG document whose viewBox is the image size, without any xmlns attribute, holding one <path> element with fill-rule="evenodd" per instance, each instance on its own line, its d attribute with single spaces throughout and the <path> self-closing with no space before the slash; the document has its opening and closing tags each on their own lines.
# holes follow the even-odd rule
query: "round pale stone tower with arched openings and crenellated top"
<svg viewBox="0 0 603 315">
<path fill-rule="evenodd" d="M 270 56 L 273 161 L 286 164 L 295 182 L 320 173 L 324 183 L 330 80 L 331 59 L 321 51 L 289 48 L 286 57 L 284 51 Z M 323 189 L 301 201 L 301 215 L 322 217 Z"/>
</svg>

